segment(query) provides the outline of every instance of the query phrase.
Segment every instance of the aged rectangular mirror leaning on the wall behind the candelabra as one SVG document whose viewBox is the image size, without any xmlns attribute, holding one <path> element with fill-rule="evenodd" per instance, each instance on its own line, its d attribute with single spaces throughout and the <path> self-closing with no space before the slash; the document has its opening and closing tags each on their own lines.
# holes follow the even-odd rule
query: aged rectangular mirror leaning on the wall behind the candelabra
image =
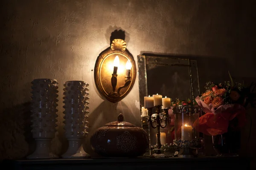
<svg viewBox="0 0 256 170">
<path fill-rule="evenodd" d="M 138 56 L 137 60 L 140 108 L 144 106 L 144 96 L 148 95 L 161 94 L 163 97 L 167 96 L 172 100 L 187 101 L 190 99 L 194 101 L 195 97 L 200 94 L 196 60 L 178 58 L 177 56 L 145 55 Z M 169 115 L 172 115 L 172 109 L 169 109 Z M 173 142 L 174 124 L 171 119 L 172 116 L 169 116 L 169 123 L 166 128 L 160 129 L 162 145 Z M 143 129 L 150 135 L 152 147 L 156 144 L 156 129 L 148 127 L 147 118 L 143 117 L 142 114 L 141 121 Z"/>
</svg>

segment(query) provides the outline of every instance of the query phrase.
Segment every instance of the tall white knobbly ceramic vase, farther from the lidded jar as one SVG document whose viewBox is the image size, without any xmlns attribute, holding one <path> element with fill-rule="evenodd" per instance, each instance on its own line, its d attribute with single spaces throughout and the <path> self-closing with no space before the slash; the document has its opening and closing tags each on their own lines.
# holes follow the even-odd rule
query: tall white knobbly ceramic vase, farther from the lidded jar
<svg viewBox="0 0 256 170">
<path fill-rule="evenodd" d="M 32 134 L 36 150 L 28 159 L 58 158 L 50 152 L 51 140 L 55 137 L 58 82 L 55 79 L 34 79 L 32 82 Z"/>
</svg>

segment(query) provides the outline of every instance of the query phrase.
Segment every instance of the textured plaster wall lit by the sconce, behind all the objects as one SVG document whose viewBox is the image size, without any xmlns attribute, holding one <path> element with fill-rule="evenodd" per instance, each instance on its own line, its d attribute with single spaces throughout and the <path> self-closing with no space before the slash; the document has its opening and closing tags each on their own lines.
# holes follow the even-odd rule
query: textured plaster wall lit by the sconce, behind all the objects
<svg viewBox="0 0 256 170">
<path fill-rule="evenodd" d="M 120 112 L 140 125 L 138 79 L 115 104 L 104 100 L 94 84 L 96 58 L 109 47 L 115 29 L 125 31 L 135 60 L 143 53 L 196 58 L 201 87 L 209 79 L 228 78 L 227 70 L 238 79 L 256 77 L 253 1 L 1 0 L 0 13 L 0 132 L 8 136 L 0 139 L 0 156 L 5 158 L 23 157 L 34 148 L 27 108 L 36 78 L 59 82 L 58 132 L 52 142 L 58 154 L 67 149 L 61 90 L 67 80 L 90 84 L 90 132 Z M 85 150 L 92 153 L 88 139 Z"/>
</svg>

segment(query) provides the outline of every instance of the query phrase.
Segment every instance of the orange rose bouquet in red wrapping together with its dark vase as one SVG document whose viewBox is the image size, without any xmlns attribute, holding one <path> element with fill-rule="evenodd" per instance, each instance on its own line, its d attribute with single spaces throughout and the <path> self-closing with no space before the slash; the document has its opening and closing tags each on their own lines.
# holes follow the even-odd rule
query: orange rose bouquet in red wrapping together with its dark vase
<svg viewBox="0 0 256 170">
<path fill-rule="evenodd" d="M 206 92 L 196 98 L 205 112 L 193 127 L 205 135 L 212 136 L 218 156 L 237 155 L 240 148 L 240 128 L 245 124 L 245 108 L 255 106 L 255 84 L 244 87 L 242 83 L 214 84 L 207 82 Z"/>
</svg>

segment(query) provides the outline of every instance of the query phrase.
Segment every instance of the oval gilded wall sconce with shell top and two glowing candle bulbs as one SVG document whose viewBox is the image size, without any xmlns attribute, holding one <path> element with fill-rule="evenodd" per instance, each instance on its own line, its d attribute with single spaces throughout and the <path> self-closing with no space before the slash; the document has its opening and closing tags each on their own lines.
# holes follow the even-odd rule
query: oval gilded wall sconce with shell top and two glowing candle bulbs
<svg viewBox="0 0 256 170">
<path fill-rule="evenodd" d="M 131 91 L 136 72 L 136 64 L 134 58 L 126 50 L 126 42 L 115 39 L 111 47 L 102 51 L 97 58 L 94 80 L 99 92 L 115 103 Z"/>
</svg>

